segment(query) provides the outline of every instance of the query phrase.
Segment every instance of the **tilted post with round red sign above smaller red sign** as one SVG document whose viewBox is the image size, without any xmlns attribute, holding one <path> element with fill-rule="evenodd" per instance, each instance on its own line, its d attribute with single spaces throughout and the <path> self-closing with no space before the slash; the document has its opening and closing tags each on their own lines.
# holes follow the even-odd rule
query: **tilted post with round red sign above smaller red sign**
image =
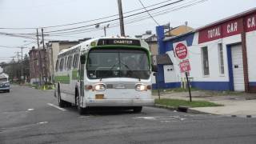
<svg viewBox="0 0 256 144">
<path fill-rule="evenodd" d="M 191 67 L 190 67 L 189 53 L 187 50 L 186 41 L 174 43 L 174 54 L 178 60 L 181 72 L 185 73 L 186 75 L 186 83 L 189 89 L 190 102 L 192 102 L 190 81 L 187 76 L 187 72 L 191 70 Z"/>
</svg>

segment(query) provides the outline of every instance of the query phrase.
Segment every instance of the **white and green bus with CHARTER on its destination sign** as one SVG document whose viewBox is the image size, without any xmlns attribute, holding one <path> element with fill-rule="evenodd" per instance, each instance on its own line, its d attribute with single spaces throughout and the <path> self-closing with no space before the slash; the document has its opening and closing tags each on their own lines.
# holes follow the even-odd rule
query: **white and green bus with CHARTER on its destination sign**
<svg viewBox="0 0 256 144">
<path fill-rule="evenodd" d="M 58 54 L 55 96 L 60 107 L 152 106 L 150 50 L 136 38 L 94 38 Z"/>
</svg>

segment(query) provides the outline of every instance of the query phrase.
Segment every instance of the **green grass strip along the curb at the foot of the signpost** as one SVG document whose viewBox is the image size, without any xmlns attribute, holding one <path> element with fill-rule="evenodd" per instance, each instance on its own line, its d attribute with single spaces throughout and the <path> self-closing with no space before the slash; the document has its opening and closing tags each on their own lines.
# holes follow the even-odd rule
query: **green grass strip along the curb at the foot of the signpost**
<svg viewBox="0 0 256 144">
<path fill-rule="evenodd" d="M 181 100 L 181 99 L 155 99 L 154 100 L 155 104 L 163 105 L 163 106 L 189 106 L 189 107 L 207 107 L 207 106 L 222 106 L 219 104 L 216 104 L 214 102 L 207 102 L 207 101 L 186 101 L 186 100 Z"/>
</svg>

